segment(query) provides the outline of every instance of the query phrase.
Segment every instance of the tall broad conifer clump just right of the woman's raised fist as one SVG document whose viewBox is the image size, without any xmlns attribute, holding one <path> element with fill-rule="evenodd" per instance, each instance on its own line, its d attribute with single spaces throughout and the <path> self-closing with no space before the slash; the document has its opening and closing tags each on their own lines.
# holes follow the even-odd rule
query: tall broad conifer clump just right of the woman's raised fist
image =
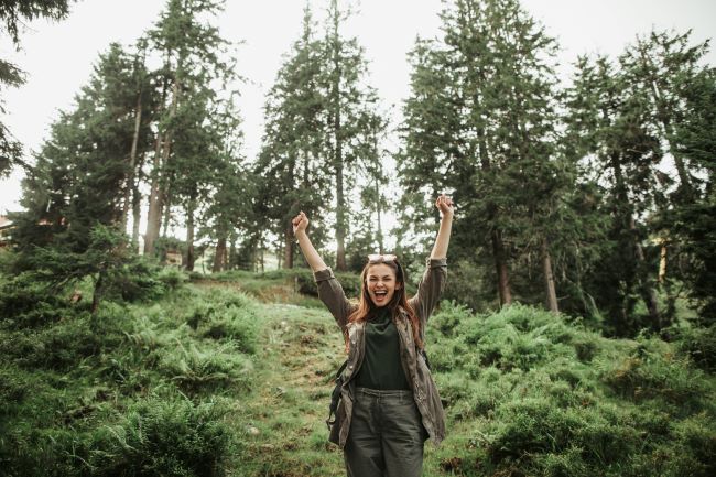
<svg viewBox="0 0 716 477">
<path fill-rule="evenodd" d="M 568 183 L 554 148 L 556 44 L 512 0 L 458 0 L 442 19 L 443 42 L 419 41 L 412 54 L 401 182 L 422 203 L 453 193 L 458 260 L 482 265 L 489 250 L 500 305 L 514 283 L 530 296 L 530 281 L 510 275 L 536 250 L 556 310 L 549 224 Z"/>
</svg>

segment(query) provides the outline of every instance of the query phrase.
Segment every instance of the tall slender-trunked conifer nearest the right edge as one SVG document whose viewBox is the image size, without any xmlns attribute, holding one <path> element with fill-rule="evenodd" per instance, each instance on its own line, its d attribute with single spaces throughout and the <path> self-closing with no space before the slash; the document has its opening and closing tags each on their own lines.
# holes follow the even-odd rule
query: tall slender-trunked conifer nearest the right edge
<svg viewBox="0 0 716 477">
<path fill-rule="evenodd" d="M 694 90 L 692 85 L 704 85 L 698 76 L 703 71 L 701 62 L 707 52 L 708 42 L 692 44 L 691 31 L 683 34 L 652 31 L 649 35 L 638 36 L 619 57 L 626 80 L 644 98 L 651 128 L 669 164 L 660 167 L 663 192 L 655 203 L 657 215 L 652 220 L 652 234 L 659 238 L 661 248 L 659 284 L 666 292 L 664 323 L 674 318 L 674 286 L 679 286 L 682 280 L 680 270 L 684 269 L 672 258 L 684 257 L 680 248 L 685 237 L 674 240 L 671 231 L 674 223 L 670 216 L 674 212 L 680 215 L 693 209 L 702 200 L 703 177 L 707 176 L 708 170 L 703 162 L 692 159 L 692 154 L 684 154 L 676 132 L 679 124 L 688 121 L 690 116 L 702 116 L 702 111 L 694 108 L 696 105 L 688 100 L 688 91 Z"/>
</svg>

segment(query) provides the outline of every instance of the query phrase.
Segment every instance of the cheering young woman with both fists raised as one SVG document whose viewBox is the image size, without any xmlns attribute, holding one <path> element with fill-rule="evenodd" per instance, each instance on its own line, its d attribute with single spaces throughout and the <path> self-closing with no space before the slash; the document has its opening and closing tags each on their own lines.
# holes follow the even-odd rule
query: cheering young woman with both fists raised
<svg viewBox="0 0 716 477">
<path fill-rule="evenodd" d="M 445 436 L 437 388 L 422 354 L 425 324 L 447 274 L 453 202 L 435 202 L 441 224 L 417 294 L 408 300 L 405 274 L 395 256 L 369 256 L 351 304 L 306 235 L 304 213 L 293 231 L 318 285 L 318 296 L 344 333 L 348 361 L 330 442 L 344 449 L 349 477 L 417 477 L 423 443 Z"/>
</svg>

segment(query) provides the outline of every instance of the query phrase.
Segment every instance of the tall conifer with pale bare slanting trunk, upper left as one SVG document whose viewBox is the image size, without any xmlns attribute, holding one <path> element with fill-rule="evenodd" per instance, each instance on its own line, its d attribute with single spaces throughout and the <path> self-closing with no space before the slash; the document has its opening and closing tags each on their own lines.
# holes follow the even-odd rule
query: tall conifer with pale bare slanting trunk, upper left
<svg viewBox="0 0 716 477">
<path fill-rule="evenodd" d="M 162 100 L 158 111 L 144 253 L 152 253 L 162 219 L 166 226 L 175 199 L 173 182 L 182 169 L 178 164 L 171 164 L 173 150 L 177 148 L 177 138 L 191 140 L 191 134 L 182 133 L 177 128 L 200 124 L 199 117 L 204 112 L 199 110 L 213 107 L 215 88 L 227 84 L 232 75 L 232 65 L 221 59 L 227 42 L 215 26 L 205 21 L 223 7 L 223 1 L 167 0 L 160 21 L 148 34 L 150 44 L 163 57 L 163 66 L 160 71 Z M 187 119 L 187 115 L 193 115 L 193 118 Z M 185 151 L 189 149 L 192 145 L 186 144 Z M 188 195 L 184 206 L 193 216 L 198 192 L 189 186 L 188 189 L 183 187 L 182 194 Z M 191 221 L 191 217 L 187 219 Z"/>
</svg>

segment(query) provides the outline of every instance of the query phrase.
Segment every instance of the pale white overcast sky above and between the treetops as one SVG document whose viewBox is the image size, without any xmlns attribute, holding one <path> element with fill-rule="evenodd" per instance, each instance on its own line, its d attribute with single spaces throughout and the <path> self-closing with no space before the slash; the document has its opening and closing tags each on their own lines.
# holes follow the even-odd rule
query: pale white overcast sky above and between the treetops
<svg viewBox="0 0 716 477">
<path fill-rule="evenodd" d="M 1 119 L 25 145 L 37 150 L 57 118 L 91 74 L 93 63 L 112 41 L 133 43 L 156 21 L 164 0 L 80 0 L 70 15 L 57 23 L 33 22 L 21 35 L 22 51 L 14 52 L 0 39 L 0 57 L 18 64 L 28 82 L 18 89 L 0 91 L 7 115 Z M 328 0 L 311 0 L 315 17 L 324 17 Z M 282 54 L 301 33 L 304 0 L 228 0 L 217 20 L 223 35 L 236 47 L 240 74 L 249 79 L 241 87 L 245 120 L 245 154 L 253 158 L 260 147 L 262 106 L 281 64 Z M 352 1 L 356 14 L 345 33 L 356 35 L 370 62 L 370 83 L 383 107 L 398 108 L 409 94 L 406 53 L 416 35 L 440 36 L 441 0 Z M 693 30 L 701 42 L 716 34 L 713 0 L 522 0 L 523 7 L 555 36 L 562 46 L 563 71 L 583 53 L 617 55 L 637 34 L 652 28 Z M 322 28 L 322 26 L 319 26 Z M 709 64 L 716 54 L 709 53 Z M 0 181 L 0 214 L 17 210 L 20 172 Z"/>
</svg>

